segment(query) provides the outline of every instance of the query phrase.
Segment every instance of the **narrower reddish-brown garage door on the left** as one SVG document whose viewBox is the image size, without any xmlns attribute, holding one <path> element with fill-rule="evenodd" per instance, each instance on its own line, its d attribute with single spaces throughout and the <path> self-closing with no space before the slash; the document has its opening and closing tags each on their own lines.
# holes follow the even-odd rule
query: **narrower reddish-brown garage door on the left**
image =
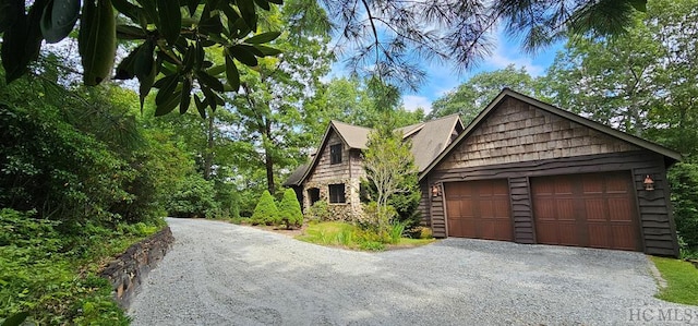
<svg viewBox="0 0 698 326">
<path fill-rule="evenodd" d="M 445 183 L 448 237 L 514 240 L 506 179 Z"/>
</svg>

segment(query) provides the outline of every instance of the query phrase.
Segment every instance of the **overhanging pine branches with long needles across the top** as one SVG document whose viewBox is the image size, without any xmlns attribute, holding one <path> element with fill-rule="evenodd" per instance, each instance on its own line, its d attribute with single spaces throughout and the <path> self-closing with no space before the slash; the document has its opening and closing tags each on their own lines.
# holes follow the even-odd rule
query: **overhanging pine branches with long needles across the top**
<svg viewBox="0 0 698 326">
<path fill-rule="evenodd" d="M 503 23 L 533 51 L 565 37 L 565 32 L 600 36 L 622 34 L 646 0 L 601 1 L 393 1 L 323 0 L 337 17 L 339 45 L 352 52 L 349 68 L 416 87 L 424 58 L 453 60 L 468 69 L 490 52 L 489 34 Z"/>
</svg>

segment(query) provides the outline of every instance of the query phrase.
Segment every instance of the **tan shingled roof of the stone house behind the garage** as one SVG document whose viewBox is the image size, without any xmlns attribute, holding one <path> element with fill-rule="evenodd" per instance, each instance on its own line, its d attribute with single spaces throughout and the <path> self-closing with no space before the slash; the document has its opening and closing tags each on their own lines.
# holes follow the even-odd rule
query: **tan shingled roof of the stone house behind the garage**
<svg viewBox="0 0 698 326">
<path fill-rule="evenodd" d="M 460 116 L 450 114 L 440 119 L 431 120 L 428 122 L 420 122 L 410 124 L 407 126 L 398 128 L 395 131 L 402 133 L 402 138 L 412 140 L 412 155 L 414 156 L 414 165 L 418 170 L 421 171 L 429 166 L 429 164 L 448 146 L 452 132 L 455 128 L 460 125 L 462 128 L 462 121 Z M 368 149 L 369 133 L 373 131 L 369 128 L 357 126 L 340 121 L 332 120 L 322 142 L 317 147 L 317 154 L 313 156 L 312 160 L 298 167 L 291 176 L 284 182 L 284 185 L 301 185 L 301 183 L 310 176 L 312 170 L 320 160 L 321 153 L 326 146 L 326 142 L 329 138 L 330 132 L 335 131 L 337 135 L 352 149 Z"/>
</svg>

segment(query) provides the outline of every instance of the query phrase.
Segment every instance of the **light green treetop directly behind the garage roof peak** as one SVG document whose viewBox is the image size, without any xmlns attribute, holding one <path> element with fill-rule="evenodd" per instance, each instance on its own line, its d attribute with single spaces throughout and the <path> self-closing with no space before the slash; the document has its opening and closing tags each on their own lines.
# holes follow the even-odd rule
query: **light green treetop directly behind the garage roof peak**
<svg viewBox="0 0 698 326">
<path fill-rule="evenodd" d="M 504 87 L 519 93 L 538 96 L 538 81 L 528 74 L 525 68 L 513 64 L 493 72 L 481 72 L 460 84 L 456 90 L 446 93 L 432 104 L 428 118 L 440 118 L 459 113 L 467 124 L 494 99 Z"/>
</svg>

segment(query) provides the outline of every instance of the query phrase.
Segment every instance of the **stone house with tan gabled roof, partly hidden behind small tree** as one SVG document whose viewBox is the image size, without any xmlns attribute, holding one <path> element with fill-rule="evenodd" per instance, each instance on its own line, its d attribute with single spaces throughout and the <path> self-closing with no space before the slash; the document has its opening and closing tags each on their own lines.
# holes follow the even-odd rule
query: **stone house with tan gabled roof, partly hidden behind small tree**
<svg viewBox="0 0 698 326">
<path fill-rule="evenodd" d="M 457 114 L 398 129 L 412 142 L 414 164 L 424 170 L 464 130 Z M 352 219 L 361 213 L 360 184 L 365 178 L 361 150 L 366 149 L 371 129 L 332 121 L 311 161 L 296 169 L 284 183 L 296 191 L 305 209 L 327 201 L 337 219 Z"/>
</svg>

